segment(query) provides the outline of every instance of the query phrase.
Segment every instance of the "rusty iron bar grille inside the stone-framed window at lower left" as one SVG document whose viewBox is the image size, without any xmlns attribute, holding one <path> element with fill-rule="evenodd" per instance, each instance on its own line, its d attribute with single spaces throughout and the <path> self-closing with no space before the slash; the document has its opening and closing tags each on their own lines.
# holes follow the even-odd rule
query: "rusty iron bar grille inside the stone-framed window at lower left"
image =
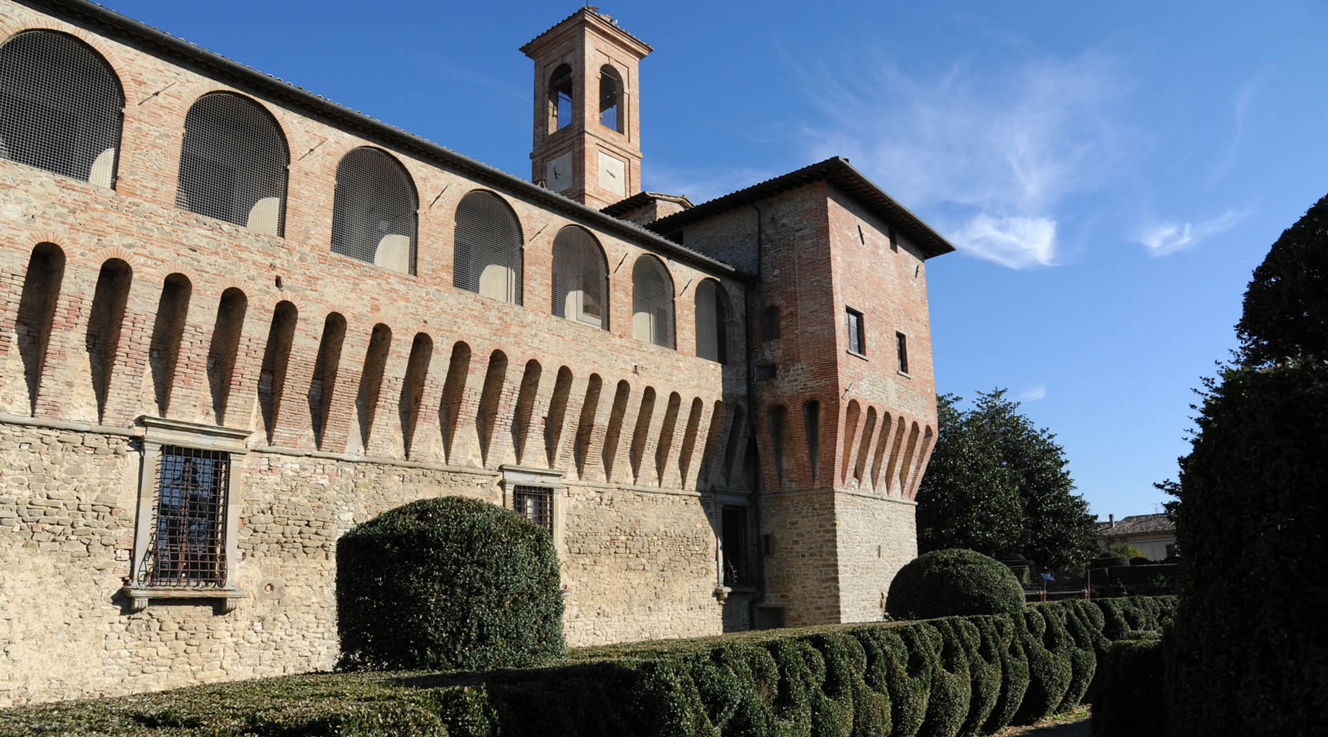
<svg viewBox="0 0 1328 737">
<path fill-rule="evenodd" d="M 146 586 L 226 584 L 230 454 L 163 446 L 157 461 L 153 531 L 138 580 Z"/>
</svg>

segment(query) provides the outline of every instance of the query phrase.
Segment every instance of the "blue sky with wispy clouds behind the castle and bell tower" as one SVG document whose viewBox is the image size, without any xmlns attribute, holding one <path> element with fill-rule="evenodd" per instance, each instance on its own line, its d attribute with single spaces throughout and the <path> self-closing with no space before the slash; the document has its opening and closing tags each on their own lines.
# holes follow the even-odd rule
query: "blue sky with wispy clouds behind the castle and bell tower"
<svg viewBox="0 0 1328 737">
<path fill-rule="evenodd" d="M 106 4 L 523 177 L 517 48 L 579 7 Z M 1328 191 L 1317 1 L 600 11 L 656 49 L 645 189 L 701 202 L 849 157 L 960 248 L 928 264 L 938 390 L 1009 388 L 1104 518 L 1165 501 L 1251 270 Z"/>
</svg>

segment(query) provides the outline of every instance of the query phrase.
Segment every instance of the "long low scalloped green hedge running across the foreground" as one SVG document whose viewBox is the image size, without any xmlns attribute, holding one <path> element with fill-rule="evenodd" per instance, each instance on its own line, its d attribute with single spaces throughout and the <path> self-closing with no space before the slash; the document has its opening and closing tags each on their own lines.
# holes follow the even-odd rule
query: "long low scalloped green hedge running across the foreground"
<svg viewBox="0 0 1328 737">
<path fill-rule="evenodd" d="M 1076 705 L 1105 610 L 1146 623 L 1173 608 L 1052 602 L 1019 616 L 583 648 L 546 668 L 287 676 L 0 712 L 0 736 L 989 734 L 1021 704 L 1041 714 Z"/>
</svg>

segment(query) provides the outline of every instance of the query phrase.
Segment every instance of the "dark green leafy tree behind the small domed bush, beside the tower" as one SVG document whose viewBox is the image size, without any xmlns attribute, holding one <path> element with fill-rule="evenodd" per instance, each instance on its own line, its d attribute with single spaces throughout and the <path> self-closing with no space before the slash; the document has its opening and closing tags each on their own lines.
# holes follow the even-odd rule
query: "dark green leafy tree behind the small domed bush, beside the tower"
<svg viewBox="0 0 1328 737">
<path fill-rule="evenodd" d="M 979 392 L 969 410 L 960 401 L 938 398 L 936 448 L 918 489 L 918 547 L 1025 555 L 1048 568 L 1088 559 L 1097 526 L 1074 494 L 1056 436 L 1036 428 L 1004 389 Z"/>
</svg>

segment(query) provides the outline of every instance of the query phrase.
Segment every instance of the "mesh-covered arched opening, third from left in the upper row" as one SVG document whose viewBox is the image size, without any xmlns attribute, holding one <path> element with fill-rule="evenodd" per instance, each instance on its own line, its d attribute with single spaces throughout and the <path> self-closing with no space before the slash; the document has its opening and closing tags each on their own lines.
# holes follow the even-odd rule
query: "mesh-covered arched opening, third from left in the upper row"
<svg viewBox="0 0 1328 737">
<path fill-rule="evenodd" d="M 414 183 L 397 159 L 355 149 L 336 167 L 332 251 L 414 274 L 417 208 Z"/>
</svg>

